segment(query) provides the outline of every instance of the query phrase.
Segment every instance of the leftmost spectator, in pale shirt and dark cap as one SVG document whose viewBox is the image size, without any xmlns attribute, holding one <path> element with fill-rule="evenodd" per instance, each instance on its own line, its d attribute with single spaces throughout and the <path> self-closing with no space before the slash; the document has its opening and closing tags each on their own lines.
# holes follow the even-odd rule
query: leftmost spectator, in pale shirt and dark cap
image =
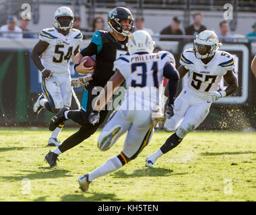
<svg viewBox="0 0 256 215">
<path fill-rule="evenodd" d="M 20 32 L 20 34 L 16 32 Z M 8 17 L 7 25 L 1 26 L 0 33 L 3 38 L 23 38 L 22 29 L 17 26 L 17 17 L 15 15 Z"/>
</svg>

